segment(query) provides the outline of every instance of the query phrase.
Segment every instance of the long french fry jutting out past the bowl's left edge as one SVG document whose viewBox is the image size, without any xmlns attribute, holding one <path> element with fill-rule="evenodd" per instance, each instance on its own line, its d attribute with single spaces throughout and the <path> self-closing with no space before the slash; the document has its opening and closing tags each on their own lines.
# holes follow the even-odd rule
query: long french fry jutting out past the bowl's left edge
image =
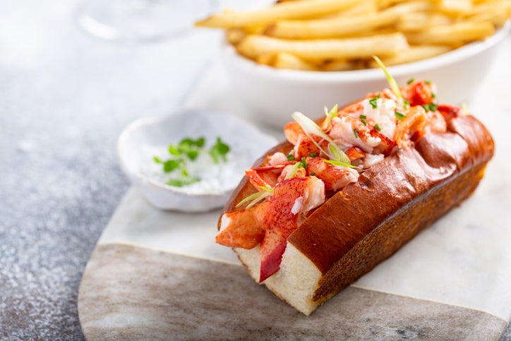
<svg viewBox="0 0 511 341">
<path fill-rule="evenodd" d="M 224 10 L 196 22 L 196 26 L 208 28 L 243 28 L 267 25 L 282 19 L 303 19 L 324 16 L 354 6 L 359 0 L 307 0 L 284 1 L 259 11 L 241 12 Z"/>
</svg>

